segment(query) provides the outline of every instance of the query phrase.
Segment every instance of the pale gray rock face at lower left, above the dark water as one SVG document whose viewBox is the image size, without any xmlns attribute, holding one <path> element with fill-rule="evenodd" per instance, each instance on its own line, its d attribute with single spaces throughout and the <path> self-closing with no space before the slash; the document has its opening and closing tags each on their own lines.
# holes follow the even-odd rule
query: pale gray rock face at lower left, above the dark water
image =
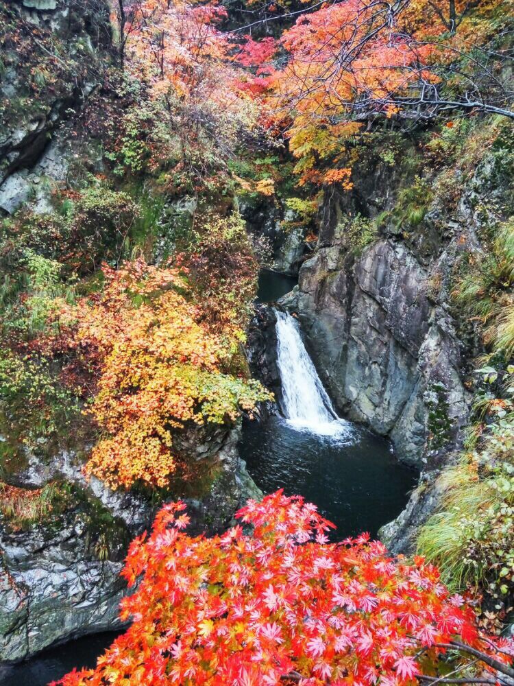
<svg viewBox="0 0 514 686">
<path fill-rule="evenodd" d="M 84 559 L 79 521 L 59 532 L 0 535 L 0 659 L 15 662 L 90 632 L 121 626 L 121 562 Z"/>
</svg>

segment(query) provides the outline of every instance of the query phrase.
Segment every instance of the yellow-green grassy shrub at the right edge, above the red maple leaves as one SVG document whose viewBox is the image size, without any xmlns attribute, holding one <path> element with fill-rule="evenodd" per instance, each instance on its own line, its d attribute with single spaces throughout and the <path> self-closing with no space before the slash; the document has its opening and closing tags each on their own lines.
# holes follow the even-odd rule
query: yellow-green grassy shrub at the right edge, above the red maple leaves
<svg viewBox="0 0 514 686">
<path fill-rule="evenodd" d="M 487 407 L 494 421 L 440 477 L 443 500 L 421 528 L 418 552 L 450 588 L 485 587 L 501 598 L 514 591 L 514 403 L 489 399 Z"/>
</svg>

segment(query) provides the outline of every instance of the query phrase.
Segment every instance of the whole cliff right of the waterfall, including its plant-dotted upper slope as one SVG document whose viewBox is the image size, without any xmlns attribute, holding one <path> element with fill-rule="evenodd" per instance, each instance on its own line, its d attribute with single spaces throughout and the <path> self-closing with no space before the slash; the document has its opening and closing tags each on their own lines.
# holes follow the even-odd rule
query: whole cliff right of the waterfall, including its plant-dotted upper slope
<svg viewBox="0 0 514 686">
<path fill-rule="evenodd" d="M 400 460 L 421 469 L 406 510 L 382 530 L 393 552 L 405 552 L 437 506 L 439 471 L 456 460 L 469 418 L 476 349 L 472 322 L 454 308 L 456 270 L 461 255 L 483 250 L 478 236 L 487 226 L 508 214 L 509 177 L 500 156 L 484 152 L 467 178 L 455 172 L 448 202 L 432 175 L 421 189 L 421 220 L 409 224 L 399 206 L 410 185 L 418 193 L 419 178 L 386 171 L 371 161 L 356 171 L 352 193 L 326 194 L 317 248 L 280 305 L 299 316 L 339 412 L 389 436 Z"/>
</svg>

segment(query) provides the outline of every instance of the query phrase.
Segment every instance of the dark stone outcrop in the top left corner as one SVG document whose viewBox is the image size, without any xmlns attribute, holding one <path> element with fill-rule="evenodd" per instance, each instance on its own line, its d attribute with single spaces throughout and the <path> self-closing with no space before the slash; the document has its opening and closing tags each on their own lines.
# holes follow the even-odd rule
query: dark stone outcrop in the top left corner
<svg viewBox="0 0 514 686">
<path fill-rule="evenodd" d="M 111 50 L 103 0 L 15 0 L 10 10 L 6 16 L 16 22 L 21 45 L 6 43 L 3 54 L 0 97 L 10 106 L 0 117 L 0 215 L 29 199 L 34 211 L 48 211 L 51 192 L 77 160 L 83 169 L 101 171 L 98 145 L 77 134 L 77 118 L 99 87 Z M 57 58 L 51 59 L 45 40 Z M 40 74 L 51 79 L 49 87 L 34 93 L 31 69 L 51 72 Z"/>
</svg>

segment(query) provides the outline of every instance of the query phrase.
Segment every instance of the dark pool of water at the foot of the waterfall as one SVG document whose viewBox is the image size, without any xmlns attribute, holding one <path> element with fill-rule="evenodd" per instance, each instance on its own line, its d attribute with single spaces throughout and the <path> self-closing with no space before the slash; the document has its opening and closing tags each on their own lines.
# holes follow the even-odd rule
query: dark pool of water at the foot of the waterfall
<svg viewBox="0 0 514 686">
<path fill-rule="evenodd" d="M 336 436 L 319 436 L 273 416 L 245 422 L 241 457 L 256 484 L 272 493 L 303 495 L 337 526 L 331 540 L 367 531 L 403 510 L 417 474 L 395 459 L 391 444 L 352 423 Z"/>
</svg>

